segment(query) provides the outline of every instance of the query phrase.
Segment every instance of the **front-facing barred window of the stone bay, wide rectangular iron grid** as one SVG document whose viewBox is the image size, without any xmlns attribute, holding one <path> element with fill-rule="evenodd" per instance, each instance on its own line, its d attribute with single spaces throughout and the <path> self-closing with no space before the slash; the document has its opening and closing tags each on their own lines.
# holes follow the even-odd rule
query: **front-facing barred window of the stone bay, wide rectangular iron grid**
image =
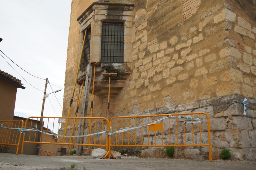
<svg viewBox="0 0 256 170">
<path fill-rule="evenodd" d="M 101 62 L 124 61 L 124 22 L 103 22 Z"/>
</svg>

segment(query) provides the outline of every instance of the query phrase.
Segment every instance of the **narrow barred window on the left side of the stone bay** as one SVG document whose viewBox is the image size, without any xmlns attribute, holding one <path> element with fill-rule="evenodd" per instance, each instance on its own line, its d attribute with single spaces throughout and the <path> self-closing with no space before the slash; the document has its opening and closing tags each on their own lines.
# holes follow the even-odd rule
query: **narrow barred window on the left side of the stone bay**
<svg viewBox="0 0 256 170">
<path fill-rule="evenodd" d="M 84 46 L 83 46 L 80 69 L 85 68 L 90 62 L 90 41 L 91 41 L 91 28 L 87 29 Z"/>
</svg>

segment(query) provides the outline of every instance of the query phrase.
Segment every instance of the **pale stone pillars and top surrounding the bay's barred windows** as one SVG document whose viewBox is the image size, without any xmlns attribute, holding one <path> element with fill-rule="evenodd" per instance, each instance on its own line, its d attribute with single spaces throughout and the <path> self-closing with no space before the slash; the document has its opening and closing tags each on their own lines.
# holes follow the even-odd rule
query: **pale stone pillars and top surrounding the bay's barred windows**
<svg viewBox="0 0 256 170">
<path fill-rule="evenodd" d="M 111 8 L 109 8 L 111 5 Z M 123 62 L 132 62 L 132 24 L 133 24 L 134 4 L 108 4 L 93 3 L 77 19 L 80 24 L 80 51 L 82 48 L 82 33 L 86 28 L 91 27 L 90 42 L 90 63 L 101 62 L 101 37 L 102 22 L 124 22 L 124 60 Z M 119 11 L 119 14 L 113 11 Z M 121 13 L 120 13 L 121 12 Z M 84 71 L 82 69 L 81 71 Z"/>
</svg>

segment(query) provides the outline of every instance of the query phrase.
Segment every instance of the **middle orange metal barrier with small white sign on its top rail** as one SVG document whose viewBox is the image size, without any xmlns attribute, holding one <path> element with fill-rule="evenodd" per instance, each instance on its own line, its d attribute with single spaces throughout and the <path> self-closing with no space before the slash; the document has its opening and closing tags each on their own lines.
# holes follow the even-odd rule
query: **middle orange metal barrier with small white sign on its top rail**
<svg viewBox="0 0 256 170">
<path fill-rule="evenodd" d="M 43 122 L 41 128 L 37 127 L 40 118 Z M 91 121 L 91 127 L 89 127 L 89 120 Z M 82 130 L 79 129 L 80 122 L 83 124 Z M 108 151 L 108 143 L 106 142 L 108 141 L 107 134 L 110 131 L 108 125 L 109 121 L 106 118 L 31 116 L 25 121 L 24 131 L 26 134 L 23 135 L 21 153 L 23 153 L 24 144 L 27 143 L 40 144 L 39 148 L 42 150 L 44 150 L 45 144 L 51 144 L 56 145 L 56 149 L 58 145 L 66 145 L 66 148 L 71 147 L 71 145 L 83 145 L 93 146 L 94 148 L 103 147 Z M 40 137 L 37 138 L 37 135 L 40 135 Z M 79 138 L 82 138 L 80 143 L 78 143 Z M 38 139 L 39 141 L 37 141 Z M 88 139 L 91 139 L 91 141 L 88 142 Z"/>
</svg>

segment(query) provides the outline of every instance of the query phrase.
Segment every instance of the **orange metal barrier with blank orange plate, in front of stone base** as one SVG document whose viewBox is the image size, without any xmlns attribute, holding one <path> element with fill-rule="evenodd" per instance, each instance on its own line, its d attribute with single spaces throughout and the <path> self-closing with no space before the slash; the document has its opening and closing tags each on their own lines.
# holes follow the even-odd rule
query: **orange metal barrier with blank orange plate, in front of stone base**
<svg viewBox="0 0 256 170">
<path fill-rule="evenodd" d="M 202 146 L 209 147 L 212 161 L 210 120 L 203 112 L 113 117 L 110 128 L 109 150 L 111 146 Z M 202 142 L 202 133 L 208 141 Z"/>
</svg>

